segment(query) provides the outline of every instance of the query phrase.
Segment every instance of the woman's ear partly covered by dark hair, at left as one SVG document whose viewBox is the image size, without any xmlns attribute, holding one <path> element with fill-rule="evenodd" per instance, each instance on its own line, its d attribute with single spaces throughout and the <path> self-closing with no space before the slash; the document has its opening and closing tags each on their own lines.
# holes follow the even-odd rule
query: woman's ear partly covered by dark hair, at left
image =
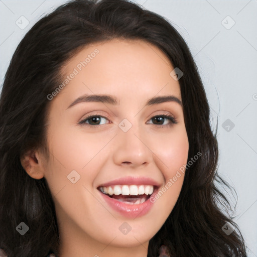
<svg viewBox="0 0 257 257">
<path fill-rule="evenodd" d="M 43 158 L 36 150 L 28 151 L 20 157 L 22 167 L 34 179 L 44 177 Z"/>
</svg>

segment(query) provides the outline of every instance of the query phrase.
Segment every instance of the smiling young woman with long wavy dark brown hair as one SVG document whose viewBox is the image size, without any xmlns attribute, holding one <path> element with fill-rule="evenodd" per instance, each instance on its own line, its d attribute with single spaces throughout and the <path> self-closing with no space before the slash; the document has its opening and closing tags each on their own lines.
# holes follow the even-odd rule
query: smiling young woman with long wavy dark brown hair
<svg viewBox="0 0 257 257">
<path fill-rule="evenodd" d="M 0 116 L 9 257 L 246 256 L 197 67 L 159 15 L 59 7 L 19 44 Z"/>
</svg>

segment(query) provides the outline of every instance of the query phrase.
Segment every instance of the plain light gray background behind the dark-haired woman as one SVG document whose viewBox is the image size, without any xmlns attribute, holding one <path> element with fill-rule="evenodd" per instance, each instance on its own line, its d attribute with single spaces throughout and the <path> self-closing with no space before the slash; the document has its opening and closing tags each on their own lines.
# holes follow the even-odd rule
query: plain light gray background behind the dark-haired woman
<svg viewBox="0 0 257 257">
<path fill-rule="evenodd" d="M 23 36 L 65 2 L 0 0 L 1 86 Z M 248 256 L 257 256 L 257 1 L 134 2 L 166 17 L 194 56 L 211 106 L 213 129 L 218 122 L 219 173 L 237 192 L 235 221 L 248 245 Z M 29 21 L 24 29 L 20 27 L 26 20 L 21 16 Z"/>
</svg>

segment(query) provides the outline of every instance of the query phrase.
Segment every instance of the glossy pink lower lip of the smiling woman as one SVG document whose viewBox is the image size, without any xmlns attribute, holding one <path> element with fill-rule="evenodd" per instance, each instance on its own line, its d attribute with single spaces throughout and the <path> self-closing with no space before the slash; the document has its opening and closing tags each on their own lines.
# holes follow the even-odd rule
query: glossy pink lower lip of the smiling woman
<svg viewBox="0 0 257 257">
<path fill-rule="evenodd" d="M 151 207 L 154 204 L 150 201 L 150 198 L 153 198 L 155 194 L 157 194 L 157 189 L 154 190 L 153 194 L 147 199 L 147 201 L 140 204 L 126 204 L 124 202 L 120 202 L 114 198 L 111 198 L 102 192 L 100 192 L 100 194 L 102 195 L 104 201 L 107 202 L 107 204 L 112 209 L 119 212 L 121 215 L 129 218 L 138 218 L 146 215 L 150 211 Z"/>
</svg>

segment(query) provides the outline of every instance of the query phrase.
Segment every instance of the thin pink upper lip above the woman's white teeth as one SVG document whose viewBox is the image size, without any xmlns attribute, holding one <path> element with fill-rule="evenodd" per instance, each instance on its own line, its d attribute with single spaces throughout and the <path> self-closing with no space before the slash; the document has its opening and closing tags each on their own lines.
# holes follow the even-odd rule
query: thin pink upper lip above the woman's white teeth
<svg viewBox="0 0 257 257">
<path fill-rule="evenodd" d="M 123 177 L 103 183 L 98 187 L 108 187 L 112 185 L 153 185 L 159 187 L 161 184 L 148 177 Z"/>
</svg>

